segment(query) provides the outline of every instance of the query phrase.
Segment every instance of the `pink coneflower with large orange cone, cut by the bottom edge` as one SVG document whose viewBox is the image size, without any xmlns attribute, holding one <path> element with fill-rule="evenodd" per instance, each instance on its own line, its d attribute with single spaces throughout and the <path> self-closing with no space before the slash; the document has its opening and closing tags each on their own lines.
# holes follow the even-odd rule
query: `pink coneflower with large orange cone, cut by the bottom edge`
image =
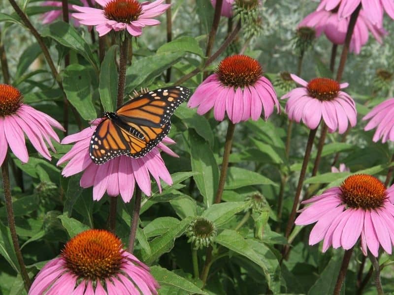
<svg viewBox="0 0 394 295">
<path fill-rule="evenodd" d="M 122 246 L 118 237 L 104 230 L 74 236 L 61 256 L 38 272 L 29 295 L 157 294 L 159 284 L 149 267 Z"/>
</svg>

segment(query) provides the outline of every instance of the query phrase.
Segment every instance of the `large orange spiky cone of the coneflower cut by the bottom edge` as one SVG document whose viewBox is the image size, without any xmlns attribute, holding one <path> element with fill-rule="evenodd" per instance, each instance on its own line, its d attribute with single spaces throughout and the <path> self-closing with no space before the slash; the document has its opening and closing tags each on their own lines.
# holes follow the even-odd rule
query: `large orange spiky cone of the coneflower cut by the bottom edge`
<svg viewBox="0 0 394 295">
<path fill-rule="evenodd" d="M 80 278 L 104 279 L 122 265 L 122 241 L 104 230 L 88 230 L 70 239 L 62 256 L 66 267 Z"/>
</svg>

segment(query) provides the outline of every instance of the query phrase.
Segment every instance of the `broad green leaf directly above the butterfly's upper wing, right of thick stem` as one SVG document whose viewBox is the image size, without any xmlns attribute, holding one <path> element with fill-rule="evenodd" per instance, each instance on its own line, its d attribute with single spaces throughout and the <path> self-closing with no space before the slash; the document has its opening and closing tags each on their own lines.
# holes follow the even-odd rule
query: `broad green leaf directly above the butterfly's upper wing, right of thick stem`
<svg viewBox="0 0 394 295">
<path fill-rule="evenodd" d="M 177 63 L 184 55 L 184 52 L 169 52 L 133 60 L 132 66 L 126 71 L 125 92 L 131 93 L 134 89 L 148 87 L 157 76 Z"/>
</svg>

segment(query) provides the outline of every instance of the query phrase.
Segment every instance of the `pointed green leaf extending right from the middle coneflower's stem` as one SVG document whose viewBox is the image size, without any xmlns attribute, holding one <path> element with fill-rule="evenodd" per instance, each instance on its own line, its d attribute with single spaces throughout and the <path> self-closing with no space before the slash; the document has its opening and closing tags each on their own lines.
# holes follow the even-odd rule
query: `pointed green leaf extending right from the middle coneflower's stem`
<svg viewBox="0 0 394 295">
<path fill-rule="evenodd" d="M 238 167 L 229 167 L 229 170 L 227 172 L 225 189 L 236 189 L 239 187 L 261 184 L 278 186 L 271 179 L 264 177 L 256 172 Z"/>
</svg>

